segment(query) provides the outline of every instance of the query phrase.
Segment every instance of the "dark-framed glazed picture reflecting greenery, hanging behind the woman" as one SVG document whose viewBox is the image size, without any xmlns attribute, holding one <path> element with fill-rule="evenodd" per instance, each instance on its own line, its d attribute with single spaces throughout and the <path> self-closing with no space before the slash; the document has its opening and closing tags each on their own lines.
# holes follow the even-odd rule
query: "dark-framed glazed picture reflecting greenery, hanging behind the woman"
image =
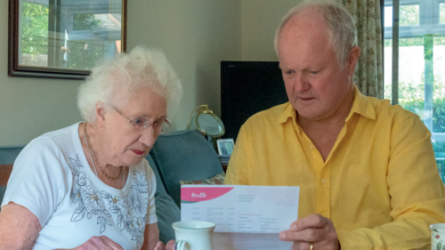
<svg viewBox="0 0 445 250">
<path fill-rule="evenodd" d="M 126 51 L 127 0 L 9 0 L 8 76 L 85 79 Z"/>
</svg>

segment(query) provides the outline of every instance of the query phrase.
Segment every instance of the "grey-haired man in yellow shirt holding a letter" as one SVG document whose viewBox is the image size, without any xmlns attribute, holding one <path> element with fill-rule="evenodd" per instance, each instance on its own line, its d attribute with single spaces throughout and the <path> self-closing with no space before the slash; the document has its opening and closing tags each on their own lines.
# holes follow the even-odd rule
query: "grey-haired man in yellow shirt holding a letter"
<svg viewBox="0 0 445 250">
<path fill-rule="evenodd" d="M 417 115 L 366 97 L 351 15 L 300 4 L 276 34 L 289 102 L 242 126 L 225 184 L 300 186 L 292 249 L 428 249 L 445 222 L 431 133 Z"/>
</svg>

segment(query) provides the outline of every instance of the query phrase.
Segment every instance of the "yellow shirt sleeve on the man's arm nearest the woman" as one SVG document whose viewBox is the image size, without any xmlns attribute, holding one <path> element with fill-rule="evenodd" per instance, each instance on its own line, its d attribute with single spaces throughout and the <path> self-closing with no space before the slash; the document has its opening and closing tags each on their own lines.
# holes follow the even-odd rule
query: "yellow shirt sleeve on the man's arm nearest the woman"
<svg viewBox="0 0 445 250">
<path fill-rule="evenodd" d="M 224 178 L 224 185 L 248 185 L 248 168 L 249 163 L 249 153 L 252 147 L 249 147 L 247 132 L 247 124 L 242 125 L 239 130 L 239 135 L 237 137 L 237 142 L 235 144 L 235 149 L 231 154 L 231 160 L 229 161 L 229 166 L 227 167 L 227 173 Z"/>
</svg>

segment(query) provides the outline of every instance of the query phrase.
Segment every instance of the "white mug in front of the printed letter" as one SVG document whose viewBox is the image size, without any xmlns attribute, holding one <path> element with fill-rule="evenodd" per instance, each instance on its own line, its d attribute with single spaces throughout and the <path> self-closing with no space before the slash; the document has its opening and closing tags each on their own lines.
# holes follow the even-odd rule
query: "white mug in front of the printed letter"
<svg viewBox="0 0 445 250">
<path fill-rule="evenodd" d="M 176 250 L 212 250 L 214 223 L 200 221 L 174 222 Z"/>
</svg>

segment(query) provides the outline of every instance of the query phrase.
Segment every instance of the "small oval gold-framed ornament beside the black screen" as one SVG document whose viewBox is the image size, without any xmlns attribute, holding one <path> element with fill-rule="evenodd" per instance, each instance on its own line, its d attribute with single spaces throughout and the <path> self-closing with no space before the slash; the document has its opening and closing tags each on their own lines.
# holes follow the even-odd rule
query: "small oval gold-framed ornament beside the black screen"
<svg viewBox="0 0 445 250">
<path fill-rule="evenodd" d="M 187 130 L 198 130 L 212 139 L 221 137 L 225 133 L 223 121 L 214 114 L 214 111 L 208 109 L 207 104 L 200 105 L 191 111 Z M 216 145 L 215 141 L 214 147 Z"/>
</svg>

